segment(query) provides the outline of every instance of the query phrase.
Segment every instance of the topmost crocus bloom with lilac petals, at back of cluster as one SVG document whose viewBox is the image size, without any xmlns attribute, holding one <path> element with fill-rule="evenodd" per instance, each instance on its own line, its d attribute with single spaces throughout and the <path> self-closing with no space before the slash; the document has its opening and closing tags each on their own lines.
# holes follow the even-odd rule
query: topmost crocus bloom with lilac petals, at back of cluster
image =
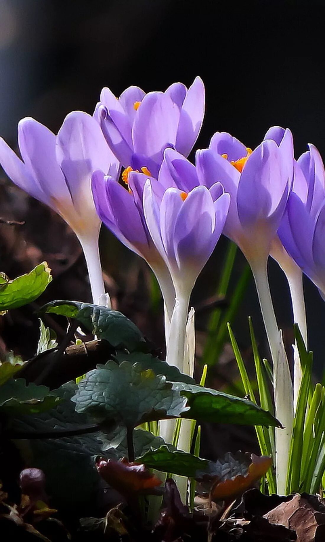
<svg viewBox="0 0 325 542">
<path fill-rule="evenodd" d="M 146 167 L 157 178 L 167 147 L 190 154 L 202 125 L 204 102 L 199 77 L 188 89 L 173 83 L 165 92 L 145 94 L 139 87 L 129 87 L 119 99 L 103 88 L 94 115 L 127 171 Z"/>
</svg>

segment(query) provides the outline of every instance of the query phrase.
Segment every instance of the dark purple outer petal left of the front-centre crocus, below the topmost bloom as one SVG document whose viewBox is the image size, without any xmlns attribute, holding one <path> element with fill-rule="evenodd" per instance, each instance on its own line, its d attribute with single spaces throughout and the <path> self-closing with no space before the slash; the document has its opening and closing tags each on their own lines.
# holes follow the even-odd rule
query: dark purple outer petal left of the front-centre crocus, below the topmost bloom
<svg viewBox="0 0 325 542">
<path fill-rule="evenodd" d="M 142 256 L 148 240 L 132 195 L 101 171 L 96 171 L 92 177 L 92 190 L 102 222 L 126 247 Z"/>
</svg>

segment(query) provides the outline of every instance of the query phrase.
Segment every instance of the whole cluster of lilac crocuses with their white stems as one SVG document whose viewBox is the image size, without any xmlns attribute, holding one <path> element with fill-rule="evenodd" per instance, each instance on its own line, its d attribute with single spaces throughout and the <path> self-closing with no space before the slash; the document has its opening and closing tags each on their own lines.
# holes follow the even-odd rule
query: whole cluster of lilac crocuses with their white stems
<svg viewBox="0 0 325 542">
<path fill-rule="evenodd" d="M 164 298 L 166 360 L 180 370 L 193 366 L 186 352 L 194 344 L 193 312 L 188 319 L 194 283 L 222 233 L 238 245 L 255 278 L 273 362 L 276 416 L 285 426 L 276 430 L 281 493 L 301 371 L 295 356 L 292 390 L 267 263 L 271 255 L 287 275 L 294 320 L 307 344 L 302 272 L 325 295 L 324 167 L 312 145 L 296 162 L 291 132 L 278 126 L 253 150 L 216 132 L 192 164 L 187 157 L 204 108 L 200 78 L 188 89 L 173 83 L 165 92 L 146 94 L 132 86 L 119 98 L 103 88 L 93 116 L 70 113 L 57 135 L 23 119 L 18 125 L 22 160 L 0 140 L 0 163 L 14 183 L 75 231 L 95 303 L 104 293 L 101 221 L 148 263 Z"/>
</svg>

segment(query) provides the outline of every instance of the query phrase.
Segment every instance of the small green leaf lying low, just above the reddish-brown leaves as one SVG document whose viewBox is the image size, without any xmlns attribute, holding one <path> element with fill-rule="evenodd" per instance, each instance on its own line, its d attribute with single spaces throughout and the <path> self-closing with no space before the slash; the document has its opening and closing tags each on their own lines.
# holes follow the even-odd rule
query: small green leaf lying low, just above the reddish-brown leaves
<svg viewBox="0 0 325 542">
<path fill-rule="evenodd" d="M 181 450 L 171 450 L 164 444 L 158 450 L 148 450 L 137 459 L 146 467 L 161 470 L 165 473 L 178 474 L 179 476 L 196 476 L 200 470 L 205 470 L 209 461 L 201 459 Z"/>
</svg>

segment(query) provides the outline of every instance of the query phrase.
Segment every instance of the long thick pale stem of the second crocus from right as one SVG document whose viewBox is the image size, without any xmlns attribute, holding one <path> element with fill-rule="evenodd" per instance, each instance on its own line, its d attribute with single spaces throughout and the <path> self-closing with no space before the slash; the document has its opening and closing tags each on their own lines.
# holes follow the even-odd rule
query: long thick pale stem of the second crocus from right
<svg viewBox="0 0 325 542">
<path fill-rule="evenodd" d="M 273 362 L 275 416 L 284 426 L 284 429 L 275 429 L 277 493 L 284 495 L 293 424 L 292 382 L 282 335 L 278 330 L 272 304 L 266 268 L 267 260 L 263 260 L 250 262 L 250 264 Z"/>
</svg>

